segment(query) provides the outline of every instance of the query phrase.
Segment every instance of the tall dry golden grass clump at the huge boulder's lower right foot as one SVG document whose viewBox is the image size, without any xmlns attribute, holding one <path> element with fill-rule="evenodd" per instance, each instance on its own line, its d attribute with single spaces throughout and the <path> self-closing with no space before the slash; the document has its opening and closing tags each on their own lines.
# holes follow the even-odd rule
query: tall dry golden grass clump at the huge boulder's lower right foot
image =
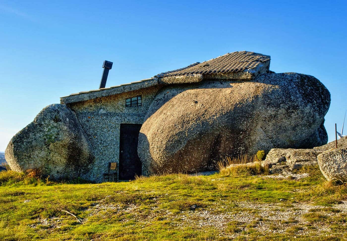
<svg viewBox="0 0 347 241">
<path fill-rule="evenodd" d="M 269 168 L 262 167 L 256 155 L 240 155 L 237 158 L 226 157 L 217 163 L 217 169 L 223 176 L 268 174 Z"/>
</svg>

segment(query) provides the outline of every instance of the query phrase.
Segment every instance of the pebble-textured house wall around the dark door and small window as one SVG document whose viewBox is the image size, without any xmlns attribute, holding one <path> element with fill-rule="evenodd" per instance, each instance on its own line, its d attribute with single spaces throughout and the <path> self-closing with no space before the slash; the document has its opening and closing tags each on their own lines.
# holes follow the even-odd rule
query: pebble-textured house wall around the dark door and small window
<svg viewBox="0 0 347 241">
<path fill-rule="evenodd" d="M 94 166 L 82 178 L 101 182 L 102 174 L 108 171 L 108 162 L 117 162 L 117 168 L 119 167 L 120 124 L 143 124 L 147 110 L 160 88 L 161 86 L 152 86 L 68 104 L 76 113 L 94 149 Z M 125 100 L 135 96 L 142 96 L 142 106 L 126 107 Z M 143 174 L 144 172 L 145 170 Z"/>
</svg>

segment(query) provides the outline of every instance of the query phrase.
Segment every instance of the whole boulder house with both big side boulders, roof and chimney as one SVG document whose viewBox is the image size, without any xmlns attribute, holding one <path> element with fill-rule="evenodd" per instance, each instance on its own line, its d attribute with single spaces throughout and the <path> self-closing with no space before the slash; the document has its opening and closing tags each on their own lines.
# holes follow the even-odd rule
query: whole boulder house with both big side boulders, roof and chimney
<svg viewBox="0 0 347 241">
<path fill-rule="evenodd" d="M 109 88 L 103 74 L 100 89 L 45 107 L 12 137 L 6 160 L 15 171 L 101 182 L 110 162 L 117 180 L 130 180 L 327 143 L 329 91 L 311 75 L 269 66 L 270 56 L 242 51 Z"/>
</svg>

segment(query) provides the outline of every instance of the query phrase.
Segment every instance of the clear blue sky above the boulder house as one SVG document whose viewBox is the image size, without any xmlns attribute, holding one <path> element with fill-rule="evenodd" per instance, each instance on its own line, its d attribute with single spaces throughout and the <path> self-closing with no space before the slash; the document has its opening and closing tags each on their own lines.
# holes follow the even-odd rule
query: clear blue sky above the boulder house
<svg viewBox="0 0 347 241">
<path fill-rule="evenodd" d="M 150 78 L 234 51 L 318 78 L 329 141 L 347 108 L 347 1 L 0 0 L 0 151 L 59 97 Z M 346 128 L 347 133 L 347 128 Z"/>
</svg>

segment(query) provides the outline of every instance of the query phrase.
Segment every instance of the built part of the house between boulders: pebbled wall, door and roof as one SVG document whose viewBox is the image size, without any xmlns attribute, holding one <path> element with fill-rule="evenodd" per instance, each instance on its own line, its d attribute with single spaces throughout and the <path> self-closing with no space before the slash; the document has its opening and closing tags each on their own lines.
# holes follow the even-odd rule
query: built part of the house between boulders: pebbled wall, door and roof
<svg viewBox="0 0 347 241">
<path fill-rule="evenodd" d="M 269 71 L 270 56 L 233 52 L 202 63 L 155 75 L 153 78 L 61 97 L 85 130 L 95 164 L 89 176 L 100 180 L 108 162 L 117 162 L 117 179 L 146 174 L 137 154 L 138 135 L 156 93 L 168 84 L 195 83 L 205 79 L 250 80 Z"/>
</svg>

